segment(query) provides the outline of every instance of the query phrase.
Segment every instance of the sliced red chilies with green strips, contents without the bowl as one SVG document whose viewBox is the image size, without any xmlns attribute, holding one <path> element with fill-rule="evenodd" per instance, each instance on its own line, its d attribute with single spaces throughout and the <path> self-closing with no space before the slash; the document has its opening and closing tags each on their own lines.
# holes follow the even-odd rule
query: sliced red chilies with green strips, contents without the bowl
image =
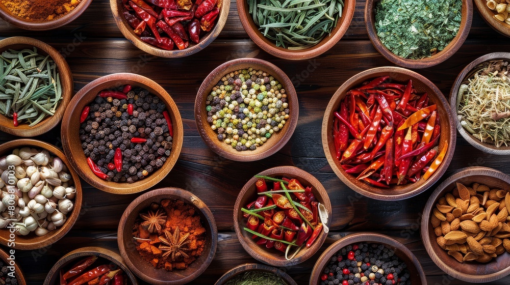
<svg viewBox="0 0 510 285">
<path fill-rule="evenodd" d="M 271 181 L 270 191 L 266 180 Z M 265 176 L 259 177 L 255 187 L 257 199 L 241 211 L 247 218 L 244 230 L 253 234 L 253 239 L 258 239 L 257 244 L 286 252 L 288 260 L 292 259 L 287 257 L 291 246 L 311 247 L 323 231 L 318 215 L 319 202 L 312 188 L 303 187 L 297 179 Z"/>
</svg>

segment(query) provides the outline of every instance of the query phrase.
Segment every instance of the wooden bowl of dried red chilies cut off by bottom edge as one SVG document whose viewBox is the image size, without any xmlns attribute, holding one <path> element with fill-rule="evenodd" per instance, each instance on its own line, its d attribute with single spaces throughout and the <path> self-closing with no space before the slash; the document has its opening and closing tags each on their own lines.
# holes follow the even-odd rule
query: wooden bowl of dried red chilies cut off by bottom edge
<svg viewBox="0 0 510 285">
<path fill-rule="evenodd" d="M 82 247 L 64 255 L 44 285 L 138 285 L 120 255 L 103 247 Z"/>
</svg>

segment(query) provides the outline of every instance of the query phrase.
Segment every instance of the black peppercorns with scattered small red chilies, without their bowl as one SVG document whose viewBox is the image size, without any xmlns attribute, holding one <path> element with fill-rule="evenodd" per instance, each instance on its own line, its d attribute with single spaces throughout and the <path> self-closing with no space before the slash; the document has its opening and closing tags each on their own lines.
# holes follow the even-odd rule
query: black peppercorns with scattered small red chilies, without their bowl
<svg viewBox="0 0 510 285">
<path fill-rule="evenodd" d="M 163 166 L 173 127 L 165 103 L 130 85 L 99 92 L 80 117 L 87 163 L 99 178 L 133 183 Z"/>
</svg>

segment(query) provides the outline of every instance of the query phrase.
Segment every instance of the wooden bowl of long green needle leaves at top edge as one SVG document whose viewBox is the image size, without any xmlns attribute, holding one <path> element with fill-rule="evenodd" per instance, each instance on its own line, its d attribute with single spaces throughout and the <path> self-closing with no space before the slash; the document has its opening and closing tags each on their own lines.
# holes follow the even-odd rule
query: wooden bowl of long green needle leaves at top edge
<svg viewBox="0 0 510 285">
<path fill-rule="evenodd" d="M 285 60 L 311 59 L 333 47 L 347 31 L 354 6 L 354 0 L 237 1 L 251 40 Z"/>
</svg>

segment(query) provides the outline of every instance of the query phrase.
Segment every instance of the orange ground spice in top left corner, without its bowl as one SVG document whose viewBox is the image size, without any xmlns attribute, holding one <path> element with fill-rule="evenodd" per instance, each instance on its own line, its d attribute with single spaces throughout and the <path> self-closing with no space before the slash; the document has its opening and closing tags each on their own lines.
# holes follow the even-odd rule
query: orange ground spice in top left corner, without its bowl
<svg viewBox="0 0 510 285">
<path fill-rule="evenodd" d="M 2 0 L 2 4 L 20 18 L 50 21 L 69 13 L 80 0 Z"/>
</svg>

